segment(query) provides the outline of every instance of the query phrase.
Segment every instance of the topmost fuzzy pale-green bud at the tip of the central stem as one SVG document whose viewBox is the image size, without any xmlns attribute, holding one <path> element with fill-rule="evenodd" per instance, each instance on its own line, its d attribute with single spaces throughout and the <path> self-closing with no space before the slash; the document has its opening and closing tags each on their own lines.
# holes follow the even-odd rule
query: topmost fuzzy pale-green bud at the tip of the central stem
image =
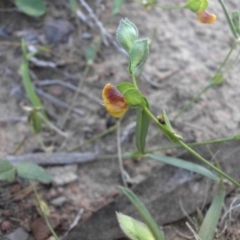
<svg viewBox="0 0 240 240">
<path fill-rule="evenodd" d="M 117 30 L 117 41 L 122 48 L 129 53 L 137 38 L 137 27 L 128 19 L 122 19 Z"/>
</svg>

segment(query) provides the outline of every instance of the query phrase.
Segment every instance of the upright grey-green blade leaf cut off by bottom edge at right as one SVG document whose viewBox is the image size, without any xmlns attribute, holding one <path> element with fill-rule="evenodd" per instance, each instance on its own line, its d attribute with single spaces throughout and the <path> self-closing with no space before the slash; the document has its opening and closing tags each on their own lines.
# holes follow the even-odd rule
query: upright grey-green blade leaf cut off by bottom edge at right
<svg viewBox="0 0 240 240">
<path fill-rule="evenodd" d="M 210 208 L 203 220 L 203 223 L 198 232 L 198 236 L 202 240 L 213 240 L 214 233 L 221 215 L 221 210 L 224 203 L 225 193 L 220 191 L 212 201 Z"/>
</svg>

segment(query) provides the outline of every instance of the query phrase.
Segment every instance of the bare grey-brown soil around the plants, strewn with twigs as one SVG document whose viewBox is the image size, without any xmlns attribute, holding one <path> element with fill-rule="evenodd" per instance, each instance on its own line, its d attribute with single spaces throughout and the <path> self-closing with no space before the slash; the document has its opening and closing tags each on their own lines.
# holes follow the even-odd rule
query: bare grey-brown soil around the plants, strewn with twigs
<svg viewBox="0 0 240 240">
<path fill-rule="evenodd" d="M 116 123 L 102 106 L 101 91 L 106 83 L 117 85 L 131 80 L 127 72 L 128 59 L 119 48 L 114 46 L 115 32 L 122 18 L 128 18 L 136 24 L 141 38 L 151 39 L 156 32 L 149 58 L 138 79 L 139 88 L 149 100 L 155 115 L 159 115 L 165 109 L 174 129 L 186 142 L 217 139 L 239 133 L 240 68 L 237 65 L 239 61 L 224 75 L 223 84 L 210 88 L 193 107 L 177 120 L 173 120 L 179 110 L 214 76 L 233 44 L 233 37 L 218 1 L 211 1 L 209 5 L 209 11 L 217 15 L 217 21 L 213 25 L 201 24 L 197 21 L 196 15 L 187 10 L 163 11 L 157 8 L 144 10 L 135 2 L 126 1 L 120 14 L 112 17 L 112 1 L 86 2 L 104 28 L 113 36 L 113 40 L 108 40 L 108 44 L 102 42 L 100 45 L 95 62 L 83 83 L 82 93 L 74 104 L 74 108 L 83 114 L 79 116 L 71 113 L 62 128 L 67 137 L 49 130 L 48 127 L 44 127 L 41 132 L 41 138 L 48 152 L 69 151 Z M 179 0 L 165 1 L 166 5 L 181 3 Z M 17 155 L 43 151 L 29 127 L 28 112 L 24 110 L 24 106 L 30 106 L 30 103 L 19 74 L 22 61 L 21 39 L 25 39 L 32 46 L 51 45 L 50 51 L 41 52 L 36 56 L 39 60 L 48 62 L 48 66 L 41 67 L 34 62 L 30 63 L 31 78 L 36 89 L 70 105 L 72 90 L 56 84 L 43 86 L 43 83 L 46 80 L 60 80 L 77 87 L 79 81 L 84 79 L 87 66 L 85 50 L 96 46 L 101 37 L 100 29 L 81 4 L 79 9 L 88 17 L 86 22 L 80 20 L 63 0 L 48 2 L 47 13 L 40 18 L 29 17 L 19 11 L 4 11 L 13 7 L 11 2 L 0 1 L 1 159 L 13 155 L 22 141 L 24 144 L 17 151 Z M 230 10 L 240 9 L 240 3 L 229 0 L 227 7 Z M 59 127 L 67 111 L 66 108 L 54 104 L 41 94 L 39 97 L 51 123 Z M 128 132 L 127 129 L 134 122 L 135 111 L 130 109 L 121 123 L 121 136 Z M 161 134 L 156 135 L 156 130 L 152 124 L 147 148 L 170 144 L 166 137 Z M 130 131 L 123 141 L 123 153 L 135 150 L 133 134 L 134 132 Z M 231 143 L 228 144 L 231 146 Z M 237 144 L 234 147 L 238 149 Z M 224 149 L 228 151 L 227 148 Z M 233 148 L 229 149 L 233 151 Z M 100 160 L 91 163 L 67 167 L 46 166 L 49 172 L 56 175 L 56 179 L 61 179 L 64 172 L 66 175 L 72 174 L 74 181 L 69 180 L 68 184 L 57 184 L 59 183 L 57 180 L 52 185 L 37 184 L 39 194 L 50 206 L 51 216 L 55 217 L 56 231 L 59 235 L 63 235 L 69 229 L 80 209 L 84 210 L 83 214 L 80 214 L 83 223 L 92 213 L 111 202 L 119 192 L 117 186 L 121 184 L 118 162 L 113 157 L 113 154 L 117 153 L 116 132 L 86 144 L 76 151 L 97 152 L 101 157 Z M 161 153 L 177 156 L 182 152 L 174 149 Z M 214 154 L 217 158 L 221 158 L 221 151 L 216 150 Z M 128 159 L 124 162 L 124 166 L 135 182 L 141 182 L 151 176 L 154 168 L 161 167 L 162 164 L 148 159 L 144 161 Z M 9 236 L 8 234 L 13 233 L 20 226 L 28 232 L 28 239 L 46 239 L 46 237 L 36 238 L 36 235 L 32 234 L 34 229 L 31 224 L 39 219 L 39 214 L 28 182 L 18 179 L 14 184 L 4 183 L 0 193 L 0 239 L 1 236 L 3 239 L 4 236 Z M 237 191 L 232 193 L 226 202 L 230 204 L 231 200 L 238 196 L 237 194 Z M 177 224 L 179 231 L 191 234 L 182 222 Z M 229 239 L 239 238 L 237 229 L 237 224 L 228 228 L 233 236 Z M 168 228 L 166 232 L 167 239 L 182 239 L 175 232 L 174 234 L 171 230 L 168 232 Z"/>
</svg>

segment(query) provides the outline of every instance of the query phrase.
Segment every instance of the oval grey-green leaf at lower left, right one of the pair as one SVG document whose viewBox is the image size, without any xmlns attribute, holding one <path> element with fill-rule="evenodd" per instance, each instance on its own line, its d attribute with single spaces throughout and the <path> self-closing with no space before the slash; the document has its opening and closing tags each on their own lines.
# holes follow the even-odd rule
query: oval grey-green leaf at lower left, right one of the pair
<svg viewBox="0 0 240 240">
<path fill-rule="evenodd" d="M 34 163 L 20 163 L 16 169 L 18 176 L 21 178 L 37 180 L 42 183 L 50 183 L 52 181 L 52 176 Z"/>
</svg>

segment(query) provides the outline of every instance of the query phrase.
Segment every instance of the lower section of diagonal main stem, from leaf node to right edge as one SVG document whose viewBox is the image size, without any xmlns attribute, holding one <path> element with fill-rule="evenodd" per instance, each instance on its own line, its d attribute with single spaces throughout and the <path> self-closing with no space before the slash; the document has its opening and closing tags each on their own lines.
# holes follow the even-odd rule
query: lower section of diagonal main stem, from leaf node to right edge
<svg viewBox="0 0 240 240">
<path fill-rule="evenodd" d="M 197 152 L 195 152 L 192 148 L 190 148 L 187 144 L 185 144 L 184 142 L 182 142 L 181 140 L 178 141 L 178 143 L 185 148 L 188 152 L 190 152 L 193 156 L 195 156 L 196 158 L 198 158 L 202 163 L 206 164 L 208 167 L 210 167 L 211 169 L 213 169 L 214 171 L 216 171 L 219 175 L 221 175 L 222 177 L 228 179 L 230 182 L 232 182 L 234 185 L 236 185 L 237 187 L 240 188 L 240 184 L 234 180 L 233 178 L 231 178 L 230 176 L 228 176 L 225 172 L 221 171 L 219 168 L 215 167 L 213 164 L 211 164 L 210 162 L 208 162 L 205 158 L 203 158 L 201 155 L 199 155 Z"/>
</svg>

